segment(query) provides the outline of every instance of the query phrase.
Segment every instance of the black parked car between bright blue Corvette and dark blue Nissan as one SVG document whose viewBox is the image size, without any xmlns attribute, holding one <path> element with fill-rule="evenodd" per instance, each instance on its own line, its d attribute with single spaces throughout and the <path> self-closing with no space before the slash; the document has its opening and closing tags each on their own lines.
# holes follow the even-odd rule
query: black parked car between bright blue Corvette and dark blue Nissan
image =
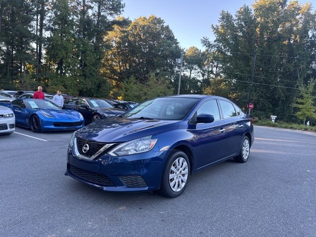
<svg viewBox="0 0 316 237">
<path fill-rule="evenodd" d="M 65 100 L 63 109 L 77 110 L 84 118 L 85 124 L 103 118 L 110 118 L 125 113 L 125 110 L 114 108 L 102 99 L 76 97 Z"/>
</svg>

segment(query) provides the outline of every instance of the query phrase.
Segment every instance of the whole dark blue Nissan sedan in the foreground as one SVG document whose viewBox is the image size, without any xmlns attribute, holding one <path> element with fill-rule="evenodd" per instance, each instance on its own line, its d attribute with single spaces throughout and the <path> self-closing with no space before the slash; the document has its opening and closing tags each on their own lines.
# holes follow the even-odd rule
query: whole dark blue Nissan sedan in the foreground
<svg viewBox="0 0 316 237">
<path fill-rule="evenodd" d="M 177 197 L 190 174 L 229 158 L 246 162 L 253 141 L 252 120 L 228 99 L 159 97 L 76 131 L 65 175 L 105 191 Z"/>
</svg>

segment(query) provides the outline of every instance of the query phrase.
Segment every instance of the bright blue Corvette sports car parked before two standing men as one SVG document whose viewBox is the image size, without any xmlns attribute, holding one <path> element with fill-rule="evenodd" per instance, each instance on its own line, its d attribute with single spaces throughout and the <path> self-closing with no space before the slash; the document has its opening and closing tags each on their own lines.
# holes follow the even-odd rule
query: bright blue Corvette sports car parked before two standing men
<svg viewBox="0 0 316 237">
<path fill-rule="evenodd" d="M 33 132 L 77 130 L 84 126 L 79 112 L 62 110 L 48 100 L 16 99 L 3 105 L 13 110 L 17 125 L 31 128 Z"/>
</svg>

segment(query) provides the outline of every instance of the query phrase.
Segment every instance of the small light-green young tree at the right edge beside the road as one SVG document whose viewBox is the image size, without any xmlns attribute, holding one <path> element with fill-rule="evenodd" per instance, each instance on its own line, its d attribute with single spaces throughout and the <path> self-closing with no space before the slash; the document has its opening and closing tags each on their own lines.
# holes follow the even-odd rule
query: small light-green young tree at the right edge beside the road
<svg viewBox="0 0 316 237">
<path fill-rule="evenodd" d="M 316 106 L 314 100 L 316 96 L 313 95 L 316 80 L 311 79 L 308 85 L 300 86 L 300 93 L 296 99 L 296 103 L 293 104 L 294 108 L 298 108 L 299 111 L 295 113 L 295 116 L 304 121 L 304 125 L 307 118 L 316 119 Z"/>
</svg>

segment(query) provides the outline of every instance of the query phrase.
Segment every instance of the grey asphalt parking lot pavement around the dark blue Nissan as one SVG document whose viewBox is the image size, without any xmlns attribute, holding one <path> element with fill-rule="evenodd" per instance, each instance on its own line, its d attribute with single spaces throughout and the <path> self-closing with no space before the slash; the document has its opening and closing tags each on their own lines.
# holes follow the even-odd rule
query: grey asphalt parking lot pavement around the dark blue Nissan
<svg viewBox="0 0 316 237">
<path fill-rule="evenodd" d="M 0 136 L 0 236 L 316 236 L 316 134 L 256 126 L 246 163 L 205 168 L 173 199 L 64 176 L 71 134 Z"/>
</svg>

